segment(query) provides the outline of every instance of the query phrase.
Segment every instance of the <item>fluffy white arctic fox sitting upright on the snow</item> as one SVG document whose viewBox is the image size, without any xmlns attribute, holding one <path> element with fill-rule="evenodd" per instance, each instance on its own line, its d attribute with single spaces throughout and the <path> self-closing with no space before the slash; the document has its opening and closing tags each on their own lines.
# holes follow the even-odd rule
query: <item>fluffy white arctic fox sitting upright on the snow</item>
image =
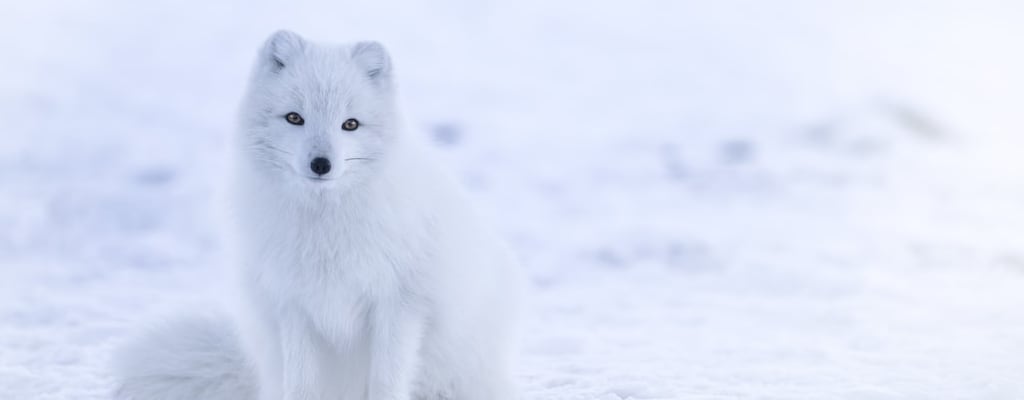
<svg viewBox="0 0 1024 400">
<path fill-rule="evenodd" d="M 117 398 L 517 397 L 517 267 L 403 131 L 394 92 L 376 42 L 266 41 L 231 179 L 242 310 L 122 348 Z"/>
</svg>

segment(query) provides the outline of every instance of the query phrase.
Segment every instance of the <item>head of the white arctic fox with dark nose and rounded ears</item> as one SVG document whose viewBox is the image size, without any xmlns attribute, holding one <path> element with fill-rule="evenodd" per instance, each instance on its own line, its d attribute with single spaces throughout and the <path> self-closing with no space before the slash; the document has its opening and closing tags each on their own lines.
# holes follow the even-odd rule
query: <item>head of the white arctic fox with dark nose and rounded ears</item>
<svg viewBox="0 0 1024 400">
<path fill-rule="evenodd" d="M 281 31 L 252 74 L 242 168 L 319 190 L 352 186 L 387 154 L 396 116 L 391 60 L 379 43 L 326 46 Z"/>
</svg>

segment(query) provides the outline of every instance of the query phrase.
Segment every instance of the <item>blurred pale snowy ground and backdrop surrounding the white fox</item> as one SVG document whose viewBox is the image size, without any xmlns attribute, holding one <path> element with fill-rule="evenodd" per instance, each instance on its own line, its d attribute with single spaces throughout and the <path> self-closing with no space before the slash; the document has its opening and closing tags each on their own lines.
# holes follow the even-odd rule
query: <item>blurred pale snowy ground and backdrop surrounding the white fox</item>
<svg viewBox="0 0 1024 400">
<path fill-rule="evenodd" d="M 280 28 L 390 48 L 530 272 L 525 399 L 1024 398 L 1021 2 L 0 8 L 0 399 L 105 399 L 114 346 L 216 307 Z"/>
</svg>

